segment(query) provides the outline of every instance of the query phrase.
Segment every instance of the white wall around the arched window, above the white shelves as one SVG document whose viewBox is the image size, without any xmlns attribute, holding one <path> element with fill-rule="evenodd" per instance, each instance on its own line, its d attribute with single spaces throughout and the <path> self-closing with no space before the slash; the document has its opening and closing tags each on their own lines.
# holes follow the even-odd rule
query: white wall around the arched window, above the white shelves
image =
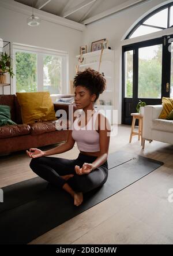
<svg viewBox="0 0 173 256">
<path fill-rule="evenodd" d="M 134 6 L 128 10 L 123 10 L 119 13 L 112 14 L 106 18 L 87 25 L 83 32 L 82 45 L 87 45 L 91 51 L 91 43 L 107 38 L 108 44 L 115 53 L 115 109 L 118 109 L 118 123 L 121 124 L 121 98 L 122 98 L 122 42 L 121 39 L 127 31 L 130 32 L 146 13 L 150 13 L 156 9 L 160 4 L 166 4 L 171 1 L 153 0 Z M 157 7 L 158 6 L 158 7 Z"/>
</svg>

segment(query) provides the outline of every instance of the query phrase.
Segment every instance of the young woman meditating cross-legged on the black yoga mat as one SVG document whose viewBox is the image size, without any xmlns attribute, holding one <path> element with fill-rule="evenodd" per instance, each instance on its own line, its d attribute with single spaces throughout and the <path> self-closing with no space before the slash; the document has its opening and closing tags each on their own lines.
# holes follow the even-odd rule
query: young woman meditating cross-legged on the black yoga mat
<svg viewBox="0 0 173 256">
<path fill-rule="evenodd" d="M 69 192 L 74 205 L 79 206 L 82 193 L 100 187 L 107 180 L 111 127 L 106 116 L 94 108 L 106 87 L 104 77 L 88 68 L 74 77 L 74 87 L 75 103 L 81 115 L 74 118 L 67 142 L 47 151 L 29 149 L 27 154 L 32 158 L 29 166 L 33 172 Z M 80 150 L 76 159 L 47 157 L 72 149 L 75 142 Z"/>
</svg>

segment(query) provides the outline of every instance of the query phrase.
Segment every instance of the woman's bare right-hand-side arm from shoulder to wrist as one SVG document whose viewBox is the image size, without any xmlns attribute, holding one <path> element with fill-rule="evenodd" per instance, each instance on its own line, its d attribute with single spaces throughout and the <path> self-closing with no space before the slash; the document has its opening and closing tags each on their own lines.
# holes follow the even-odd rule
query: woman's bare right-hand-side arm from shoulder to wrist
<svg viewBox="0 0 173 256">
<path fill-rule="evenodd" d="M 93 170 L 106 162 L 110 145 L 111 125 L 107 117 L 103 116 L 102 114 L 98 114 L 98 127 L 100 136 L 100 155 L 95 159 L 94 162 L 92 162 Z"/>
</svg>

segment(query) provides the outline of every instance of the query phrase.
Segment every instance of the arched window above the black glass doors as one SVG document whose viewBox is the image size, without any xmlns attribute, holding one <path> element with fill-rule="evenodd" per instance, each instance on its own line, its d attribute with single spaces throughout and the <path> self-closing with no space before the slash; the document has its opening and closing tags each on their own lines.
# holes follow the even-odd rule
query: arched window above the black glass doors
<svg viewBox="0 0 173 256">
<path fill-rule="evenodd" d="M 143 18 L 126 36 L 126 39 L 151 34 L 173 26 L 173 2 Z"/>
</svg>

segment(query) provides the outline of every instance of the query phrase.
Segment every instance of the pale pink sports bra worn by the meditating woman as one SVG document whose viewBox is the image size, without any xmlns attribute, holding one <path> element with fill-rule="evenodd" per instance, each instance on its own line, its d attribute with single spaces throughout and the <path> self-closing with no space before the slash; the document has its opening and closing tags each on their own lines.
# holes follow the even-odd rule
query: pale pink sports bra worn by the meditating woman
<svg viewBox="0 0 173 256">
<path fill-rule="evenodd" d="M 84 110 L 82 110 L 83 112 Z M 73 123 L 72 138 L 76 140 L 78 150 L 84 152 L 100 151 L 99 133 L 95 129 L 95 121 L 98 111 L 95 110 L 93 116 L 89 119 L 84 127 L 80 127 L 78 123 L 81 118 L 77 116 Z M 82 122 L 81 122 L 82 123 Z"/>
</svg>

